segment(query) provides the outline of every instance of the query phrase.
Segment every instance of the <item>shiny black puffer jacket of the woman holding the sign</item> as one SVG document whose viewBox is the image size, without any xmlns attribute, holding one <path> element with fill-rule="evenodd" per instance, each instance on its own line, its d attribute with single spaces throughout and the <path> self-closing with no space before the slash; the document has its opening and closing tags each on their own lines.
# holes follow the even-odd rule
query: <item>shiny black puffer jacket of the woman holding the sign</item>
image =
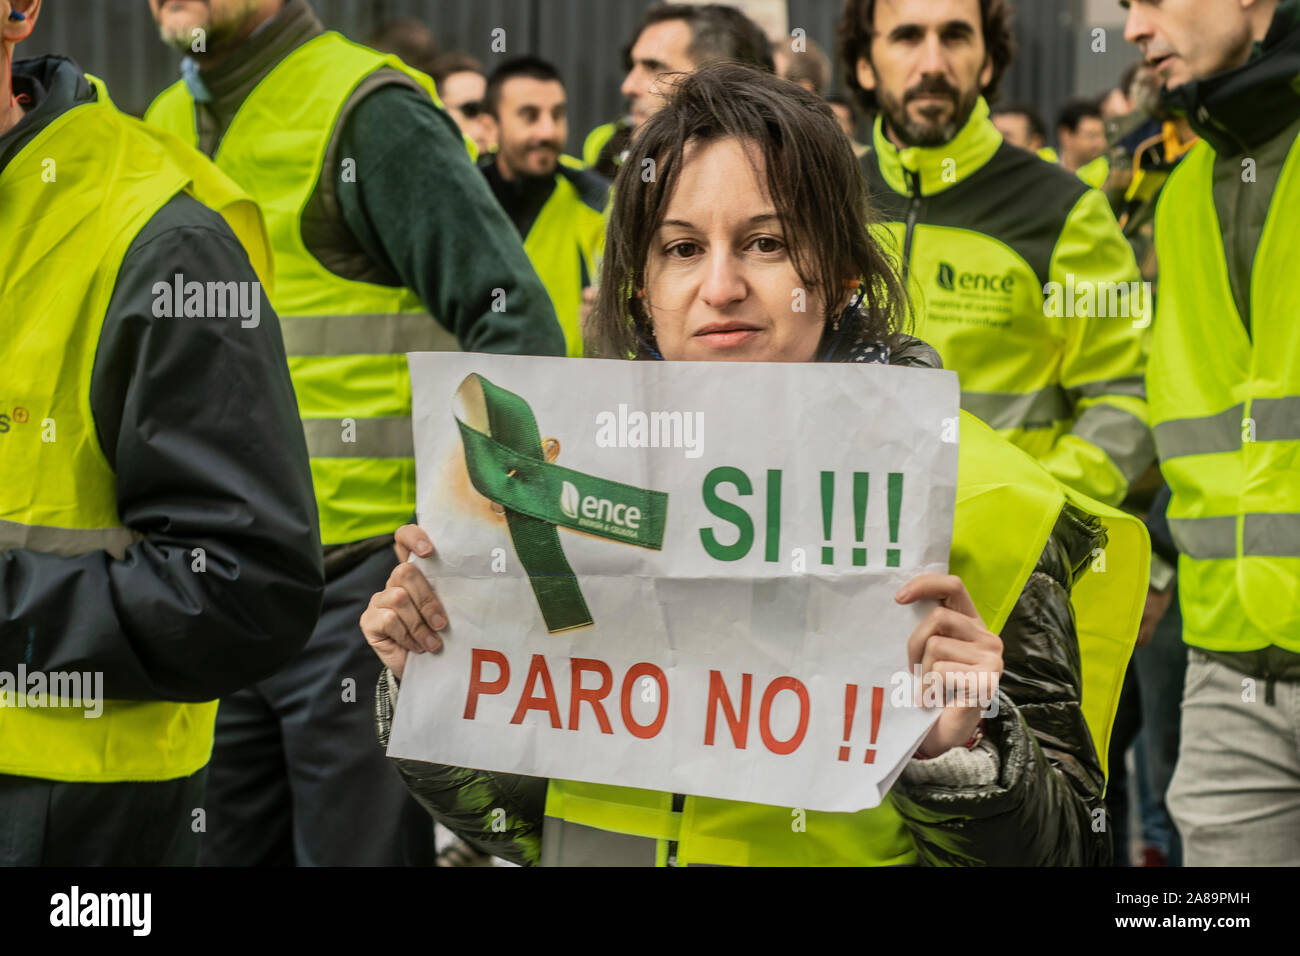
<svg viewBox="0 0 1300 956">
<path fill-rule="evenodd" d="M 887 354 L 896 365 L 939 365 L 933 350 L 915 339 Z M 1105 544 L 1095 518 L 1065 506 L 1002 627 L 998 713 L 985 718 L 982 744 L 997 754 L 996 780 L 948 786 L 905 773 L 889 791 L 922 864 L 1110 864 L 1105 779 L 1079 704 L 1079 644 L 1070 605 L 1074 583 L 1093 549 Z M 376 730 L 385 747 L 393 715 L 389 687 L 385 671 L 374 696 Z M 512 862 L 538 861 L 545 778 L 412 760 L 395 763 L 415 799 L 467 843 Z M 504 821 L 498 808 L 506 810 Z"/>
</svg>

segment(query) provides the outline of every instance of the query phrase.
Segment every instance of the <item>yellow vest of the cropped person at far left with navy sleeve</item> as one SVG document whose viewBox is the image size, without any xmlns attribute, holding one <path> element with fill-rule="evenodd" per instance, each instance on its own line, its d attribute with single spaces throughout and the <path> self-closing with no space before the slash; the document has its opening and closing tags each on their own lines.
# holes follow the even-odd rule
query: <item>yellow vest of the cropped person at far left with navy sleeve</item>
<svg viewBox="0 0 1300 956">
<path fill-rule="evenodd" d="M 0 436 L 0 549 L 120 558 L 139 535 L 117 514 L 117 479 L 99 447 L 90 385 L 130 243 L 183 191 L 225 217 L 264 284 L 273 277 L 248 198 L 173 137 L 120 113 L 103 83 L 91 83 L 96 101 L 57 117 L 0 170 L 0 235 L 22 237 L 0 243 L 4 392 L 25 410 Z M 58 189 L 42 186 L 51 161 Z M 108 700 L 99 717 L 82 706 L 12 702 L 0 706 L 4 774 L 166 780 L 195 773 L 212 753 L 216 701 Z"/>
</svg>

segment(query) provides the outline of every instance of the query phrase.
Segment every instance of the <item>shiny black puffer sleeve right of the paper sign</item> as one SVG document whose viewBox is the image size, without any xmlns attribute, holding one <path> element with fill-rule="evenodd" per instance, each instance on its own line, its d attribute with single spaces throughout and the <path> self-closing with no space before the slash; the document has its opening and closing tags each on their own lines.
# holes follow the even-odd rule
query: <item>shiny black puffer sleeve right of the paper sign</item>
<svg viewBox="0 0 1300 956">
<path fill-rule="evenodd" d="M 1066 506 L 1002 628 L 998 754 L 988 786 L 914 786 L 889 799 L 928 865 L 1108 866 L 1105 777 L 1083 717 L 1070 588 L 1105 542 L 1096 519 Z"/>
</svg>

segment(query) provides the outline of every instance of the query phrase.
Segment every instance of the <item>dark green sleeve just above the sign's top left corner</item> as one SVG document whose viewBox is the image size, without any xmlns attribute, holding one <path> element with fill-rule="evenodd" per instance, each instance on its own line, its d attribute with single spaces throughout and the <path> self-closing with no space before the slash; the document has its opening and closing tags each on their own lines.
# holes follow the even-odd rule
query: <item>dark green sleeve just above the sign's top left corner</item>
<svg viewBox="0 0 1300 956">
<path fill-rule="evenodd" d="M 390 83 L 367 95 L 338 155 L 355 160 L 335 182 L 347 228 L 462 349 L 564 355 L 555 307 L 519 233 L 455 122 L 422 91 Z"/>
</svg>

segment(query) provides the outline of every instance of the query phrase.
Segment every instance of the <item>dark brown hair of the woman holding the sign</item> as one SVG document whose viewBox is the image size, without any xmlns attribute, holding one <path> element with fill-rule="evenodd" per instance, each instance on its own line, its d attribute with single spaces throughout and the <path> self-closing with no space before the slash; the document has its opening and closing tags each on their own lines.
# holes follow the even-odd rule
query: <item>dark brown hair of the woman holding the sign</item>
<svg viewBox="0 0 1300 956">
<path fill-rule="evenodd" d="M 588 354 L 651 355 L 646 286 L 651 243 L 696 143 L 737 138 L 757 144 L 790 259 L 809 297 L 824 304 L 823 343 L 892 342 L 906 316 L 893 265 L 867 222 L 866 183 L 831 108 L 806 90 L 738 64 L 684 77 L 670 103 L 637 134 L 614 183 L 601 287 Z M 857 282 L 861 306 L 832 321 Z"/>
</svg>

